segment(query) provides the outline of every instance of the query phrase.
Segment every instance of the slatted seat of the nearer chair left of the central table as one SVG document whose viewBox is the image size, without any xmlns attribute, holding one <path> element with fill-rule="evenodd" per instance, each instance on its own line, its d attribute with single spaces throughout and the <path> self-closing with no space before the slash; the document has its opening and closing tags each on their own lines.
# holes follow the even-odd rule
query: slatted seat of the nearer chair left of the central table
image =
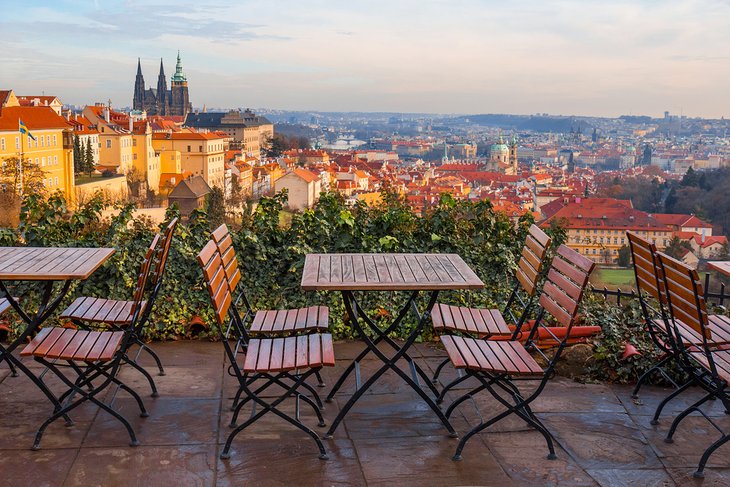
<svg viewBox="0 0 730 487">
<path fill-rule="evenodd" d="M 243 372 L 285 372 L 334 365 L 332 335 L 315 333 L 281 338 L 252 338 L 246 350 Z"/>
</svg>

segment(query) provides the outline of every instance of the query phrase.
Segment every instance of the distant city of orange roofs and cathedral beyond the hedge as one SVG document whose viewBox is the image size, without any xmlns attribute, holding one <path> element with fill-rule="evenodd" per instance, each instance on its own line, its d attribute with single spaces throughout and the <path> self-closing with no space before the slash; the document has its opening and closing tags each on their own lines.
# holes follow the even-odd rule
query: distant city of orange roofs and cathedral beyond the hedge
<svg viewBox="0 0 730 487">
<path fill-rule="evenodd" d="M 605 265 L 627 264 L 627 230 L 692 265 L 728 257 L 725 119 L 212 109 L 195 105 L 180 53 L 169 89 L 164 60 L 155 88 L 136 68 L 118 104 L 2 87 L 4 205 L 59 191 L 73 206 L 101 191 L 154 218 L 172 203 L 189 214 L 215 191 L 237 211 L 287 190 L 301 211 L 322 191 L 378 204 L 387 190 L 423 212 L 450 193 L 559 226 Z"/>
</svg>

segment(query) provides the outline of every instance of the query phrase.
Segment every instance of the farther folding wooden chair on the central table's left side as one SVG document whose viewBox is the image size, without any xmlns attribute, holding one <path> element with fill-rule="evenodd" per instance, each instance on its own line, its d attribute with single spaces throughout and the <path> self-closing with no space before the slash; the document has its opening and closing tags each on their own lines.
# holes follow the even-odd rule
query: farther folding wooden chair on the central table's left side
<svg viewBox="0 0 730 487">
<path fill-rule="evenodd" d="M 230 336 L 231 330 L 235 331 L 237 337 L 235 353 L 245 350 L 246 342 L 250 336 L 278 337 L 325 332 L 328 330 L 329 308 L 326 306 L 309 306 L 306 308 L 281 310 L 254 310 L 246 297 L 245 289 L 238 290 L 241 273 L 238 268 L 236 251 L 233 248 L 233 239 L 225 223 L 216 228 L 211 234 L 211 237 L 222 259 L 225 268 L 224 278 L 228 282 L 231 296 L 238 292 L 237 297 L 233 300 L 230 319 L 226 327 L 226 336 Z M 209 256 L 204 257 L 210 258 Z M 240 371 L 236 370 L 236 367 L 232 365 L 229 367 L 228 373 L 240 381 Z M 317 378 L 318 385 L 324 387 L 324 381 L 319 371 L 316 371 L 314 375 Z M 235 410 L 241 393 L 242 391 L 239 390 L 234 397 L 231 410 Z M 321 407 L 319 396 L 315 395 L 315 397 Z"/>
</svg>

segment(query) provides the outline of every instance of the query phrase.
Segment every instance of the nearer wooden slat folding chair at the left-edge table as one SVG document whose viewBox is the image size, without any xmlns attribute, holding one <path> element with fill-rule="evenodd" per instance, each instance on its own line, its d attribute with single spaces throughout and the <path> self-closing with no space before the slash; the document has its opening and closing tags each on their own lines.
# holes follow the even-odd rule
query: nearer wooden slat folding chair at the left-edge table
<svg viewBox="0 0 730 487">
<path fill-rule="evenodd" d="M 144 310 L 144 295 L 159 241 L 160 236 L 156 235 L 145 254 L 134 289 L 134 300 L 130 310 L 132 322 L 129 326 L 115 331 L 43 328 L 20 352 L 21 357 L 33 357 L 45 365 L 68 386 L 68 389 L 58 398 L 58 402 L 60 404 L 65 402 L 65 405 L 54 411 L 53 415 L 38 429 L 33 450 L 40 448 L 43 433 L 48 425 L 58 418 L 66 416 L 86 401 L 96 404 L 117 418 L 129 433 L 130 445 L 139 445 L 137 436 L 126 418 L 110 405 L 97 399 L 97 396 L 106 391 L 110 385 L 116 384 L 137 401 L 142 417 L 148 415 L 139 394 L 119 380 L 117 374 L 124 363 L 132 363 L 128 360 L 127 353 L 129 348 L 135 344 L 135 336 L 139 336 L 142 332 L 144 321 L 141 316 Z M 70 368 L 76 377 L 67 377 L 62 368 Z"/>
</svg>

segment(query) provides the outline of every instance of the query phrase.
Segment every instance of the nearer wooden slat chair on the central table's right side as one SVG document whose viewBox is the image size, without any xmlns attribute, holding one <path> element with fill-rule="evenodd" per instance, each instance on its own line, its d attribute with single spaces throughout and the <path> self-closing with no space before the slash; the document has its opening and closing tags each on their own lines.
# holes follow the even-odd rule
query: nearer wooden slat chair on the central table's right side
<svg viewBox="0 0 730 487">
<path fill-rule="evenodd" d="M 570 338 L 578 306 L 594 266 L 595 264 L 588 258 L 567 246 L 561 245 L 558 248 L 540 294 L 538 301 L 540 310 L 535 325 L 530 330 L 524 345 L 516 339 L 482 340 L 457 335 L 441 336 L 441 342 L 454 367 L 463 369 L 469 377 L 474 377 L 480 382 L 477 388 L 456 399 L 446 410 L 446 416 L 450 417 L 459 404 L 485 389 L 505 407 L 503 412 L 475 426 L 461 438 L 453 460 L 461 459 L 461 452 L 472 436 L 511 414 L 518 415 L 528 425 L 538 430 L 547 442 L 548 458 L 556 458 L 552 437 L 530 409 L 530 403 L 540 395 L 548 380 L 554 375 L 555 365 Z M 539 328 L 548 332 L 550 330 L 544 324 L 546 312 L 567 328 L 565 336 L 561 338 L 552 335 L 555 343 L 559 344 L 554 349 L 552 357 L 548 357 L 540 350 L 535 342 Z M 547 366 L 541 367 L 528 350 L 541 354 Z M 525 396 L 515 384 L 520 380 L 540 382 L 532 393 Z M 505 395 L 508 397 L 505 398 Z"/>
</svg>

